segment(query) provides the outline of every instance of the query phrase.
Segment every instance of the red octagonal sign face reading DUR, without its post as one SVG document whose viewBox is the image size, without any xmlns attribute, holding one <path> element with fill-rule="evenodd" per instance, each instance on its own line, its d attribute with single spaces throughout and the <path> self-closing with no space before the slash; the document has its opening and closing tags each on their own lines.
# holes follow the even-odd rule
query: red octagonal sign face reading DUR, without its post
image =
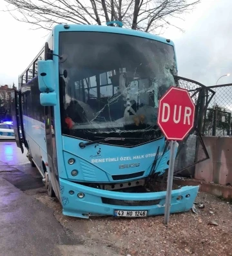
<svg viewBox="0 0 232 256">
<path fill-rule="evenodd" d="M 195 105 L 186 89 L 171 87 L 159 101 L 158 125 L 167 140 L 183 140 L 193 128 Z"/>
</svg>

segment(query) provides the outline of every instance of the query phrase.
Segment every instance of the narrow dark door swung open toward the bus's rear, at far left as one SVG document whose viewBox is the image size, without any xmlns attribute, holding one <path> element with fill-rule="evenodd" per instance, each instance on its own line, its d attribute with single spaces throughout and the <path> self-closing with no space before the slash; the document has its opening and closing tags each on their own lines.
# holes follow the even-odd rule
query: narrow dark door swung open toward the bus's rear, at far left
<svg viewBox="0 0 232 256">
<path fill-rule="evenodd" d="M 21 138 L 21 133 L 20 133 L 20 121 L 21 121 L 20 105 L 21 104 L 19 104 L 19 101 L 21 97 L 19 97 L 19 92 L 15 90 L 10 93 L 10 98 L 11 98 L 12 121 L 13 121 L 15 141 L 16 141 L 17 147 L 19 147 L 23 153 L 24 152 L 23 138 Z M 23 123 L 21 123 L 21 132 L 23 133 Z"/>
</svg>

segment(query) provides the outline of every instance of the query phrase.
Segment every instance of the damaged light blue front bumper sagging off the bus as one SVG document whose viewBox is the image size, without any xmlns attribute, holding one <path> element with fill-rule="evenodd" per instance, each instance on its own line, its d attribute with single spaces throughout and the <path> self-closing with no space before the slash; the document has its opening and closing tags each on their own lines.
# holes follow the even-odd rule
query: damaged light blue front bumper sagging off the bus
<svg viewBox="0 0 232 256">
<path fill-rule="evenodd" d="M 62 178 L 60 178 L 60 186 L 64 215 L 88 219 L 91 215 L 114 216 L 117 209 L 124 211 L 146 210 L 148 216 L 164 214 L 166 191 L 122 193 L 95 189 Z M 197 197 L 198 189 L 199 186 L 185 186 L 173 190 L 170 213 L 189 211 Z M 70 194 L 70 191 L 74 191 L 73 195 Z M 84 193 L 84 197 L 77 197 L 78 193 Z M 129 201 L 128 206 L 120 205 L 119 202 L 122 201 Z M 109 204 L 108 202 L 112 203 Z M 131 206 L 133 202 L 136 202 L 137 206 Z M 152 204 L 153 202 L 154 204 Z"/>
</svg>

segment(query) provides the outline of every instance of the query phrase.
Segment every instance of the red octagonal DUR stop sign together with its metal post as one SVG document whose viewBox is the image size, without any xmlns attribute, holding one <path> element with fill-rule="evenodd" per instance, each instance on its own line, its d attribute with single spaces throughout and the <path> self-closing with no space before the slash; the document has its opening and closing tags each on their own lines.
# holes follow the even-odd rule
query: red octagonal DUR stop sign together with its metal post
<svg viewBox="0 0 232 256">
<path fill-rule="evenodd" d="M 177 140 L 181 141 L 193 128 L 195 105 L 186 89 L 171 87 L 159 100 L 158 125 L 171 143 L 168 167 L 168 184 L 164 209 L 164 224 L 168 224 L 171 210 L 171 191 Z"/>
</svg>

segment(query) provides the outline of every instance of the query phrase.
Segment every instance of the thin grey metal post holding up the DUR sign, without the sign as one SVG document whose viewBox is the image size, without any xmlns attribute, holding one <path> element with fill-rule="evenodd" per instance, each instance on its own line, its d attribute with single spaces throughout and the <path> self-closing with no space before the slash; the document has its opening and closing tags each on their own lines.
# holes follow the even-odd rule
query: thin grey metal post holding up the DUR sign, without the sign
<svg viewBox="0 0 232 256">
<path fill-rule="evenodd" d="M 175 142 L 174 140 L 171 140 L 169 168 L 168 168 L 167 195 L 166 195 L 165 210 L 164 210 L 164 224 L 168 224 L 169 222 L 170 206 L 171 206 L 171 191 L 173 186 L 173 173 L 174 173 L 174 165 L 175 165 L 176 143 L 177 142 Z"/>
</svg>

